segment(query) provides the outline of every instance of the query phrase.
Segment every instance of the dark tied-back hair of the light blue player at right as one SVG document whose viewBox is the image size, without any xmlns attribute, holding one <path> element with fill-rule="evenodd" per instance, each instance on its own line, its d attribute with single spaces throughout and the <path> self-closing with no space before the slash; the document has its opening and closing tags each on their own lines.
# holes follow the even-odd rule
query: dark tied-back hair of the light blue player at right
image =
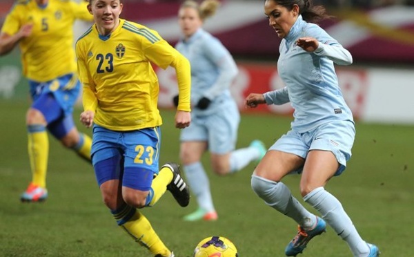
<svg viewBox="0 0 414 257">
<path fill-rule="evenodd" d="M 293 9 L 293 5 L 299 6 L 299 15 L 302 15 L 305 21 L 317 23 L 322 19 L 331 18 L 326 14 L 324 6 L 313 6 L 313 0 L 265 0 L 274 1 L 279 6 L 284 6 L 288 10 Z"/>
</svg>

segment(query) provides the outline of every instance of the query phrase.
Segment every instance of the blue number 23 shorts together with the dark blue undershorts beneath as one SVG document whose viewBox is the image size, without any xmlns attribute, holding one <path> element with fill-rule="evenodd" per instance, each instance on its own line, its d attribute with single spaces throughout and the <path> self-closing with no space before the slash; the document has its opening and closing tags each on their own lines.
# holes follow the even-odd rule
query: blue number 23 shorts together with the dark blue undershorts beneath
<svg viewBox="0 0 414 257">
<path fill-rule="evenodd" d="M 99 186 L 121 180 L 124 187 L 148 191 L 159 172 L 159 127 L 136 131 L 110 131 L 93 126 L 92 164 Z"/>
</svg>

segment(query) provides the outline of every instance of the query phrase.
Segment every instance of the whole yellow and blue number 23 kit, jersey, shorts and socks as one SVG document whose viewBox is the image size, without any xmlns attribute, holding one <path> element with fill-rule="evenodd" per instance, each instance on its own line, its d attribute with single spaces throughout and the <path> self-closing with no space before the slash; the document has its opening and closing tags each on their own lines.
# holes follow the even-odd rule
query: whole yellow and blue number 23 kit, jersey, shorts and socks
<svg viewBox="0 0 414 257">
<path fill-rule="evenodd" d="M 158 171 L 162 120 L 152 64 L 175 68 L 180 99 L 177 108 L 190 111 L 189 61 L 155 30 L 124 19 L 106 36 L 92 26 L 78 39 L 76 55 L 83 108 L 95 113 L 92 164 L 99 186 L 120 180 L 122 187 L 148 191 L 145 205 L 154 205 L 172 181 L 172 173 L 168 168 Z M 117 224 L 152 254 L 173 256 L 134 207 L 124 204 L 111 213 Z"/>
</svg>

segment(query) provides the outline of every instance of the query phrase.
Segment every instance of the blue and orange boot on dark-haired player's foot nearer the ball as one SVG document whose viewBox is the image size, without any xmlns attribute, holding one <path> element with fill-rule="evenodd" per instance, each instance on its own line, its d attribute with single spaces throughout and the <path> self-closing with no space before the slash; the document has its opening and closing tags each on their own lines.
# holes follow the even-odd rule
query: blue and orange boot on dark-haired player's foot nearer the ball
<svg viewBox="0 0 414 257">
<path fill-rule="evenodd" d="M 301 254 L 314 236 L 318 236 L 326 231 L 326 222 L 322 218 L 316 217 L 316 225 L 313 229 L 305 231 L 302 227 L 297 227 L 297 235 L 289 242 L 285 249 L 286 256 L 297 256 L 297 254 Z"/>
</svg>

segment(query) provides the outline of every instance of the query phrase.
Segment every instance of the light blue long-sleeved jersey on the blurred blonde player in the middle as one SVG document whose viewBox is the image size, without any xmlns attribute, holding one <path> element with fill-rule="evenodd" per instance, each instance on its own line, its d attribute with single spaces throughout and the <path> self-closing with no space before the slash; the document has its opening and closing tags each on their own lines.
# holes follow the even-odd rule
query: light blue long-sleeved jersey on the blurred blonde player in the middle
<svg viewBox="0 0 414 257">
<path fill-rule="evenodd" d="M 193 108 L 193 116 L 217 113 L 235 106 L 230 95 L 230 84 L 238 73 L 233 57 L 221 42 L 202 28 L 186 41 L 180 40 L 175 48 L 191 64 L 191 104 L 207 97 L 212 102 L 206 110 Z"/>
</svg>

